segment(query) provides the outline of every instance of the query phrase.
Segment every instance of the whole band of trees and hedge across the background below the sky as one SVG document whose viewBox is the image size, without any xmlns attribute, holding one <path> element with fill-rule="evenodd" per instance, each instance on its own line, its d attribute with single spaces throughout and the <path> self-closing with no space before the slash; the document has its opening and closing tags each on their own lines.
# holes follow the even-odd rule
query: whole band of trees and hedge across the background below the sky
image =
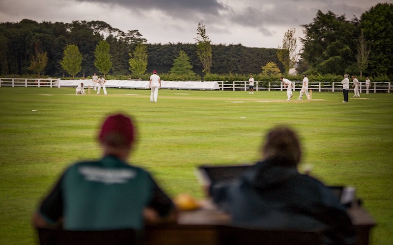
<svg viewBox="0 0 393 245">
<path fill-rule="evenodd" d="M 98 70 L 113 76 L 137 78 L 150 71 L 214 77 L 215 74 L 299 73 L 366 74 L 393 77 L 393 4 L 378 3 L 346 20 L 318 10 L 313 21 L 302 25 L 305 37 L 300 54 L 294 54 L 294 29 L 285 33 L 278 49 L 212 45 L 203 23 L 198 23 L 196 43 L 148 44 L 138 30 L 123 32 L 101 21 L 0 23 L 0 73 L 86 77 Z M 78 52 L 75 72 L 67 69 L 67 47 Z M 75 51 L 75 50 L 74 50 Z M 297 57 L 300 57 L 296 63 Z M 295 64 L 296 63 L 296 64 Z M 102 67 L 106 67 L 102 70 Z M 109 67 L 109 69 L 107 69 Z M 98 69 L 100 68 L 100 69 Z M 107 69 L 107 70 L 106 70 Z M 75 74 L 71 74 L 75 73 Z"/>
</svg>

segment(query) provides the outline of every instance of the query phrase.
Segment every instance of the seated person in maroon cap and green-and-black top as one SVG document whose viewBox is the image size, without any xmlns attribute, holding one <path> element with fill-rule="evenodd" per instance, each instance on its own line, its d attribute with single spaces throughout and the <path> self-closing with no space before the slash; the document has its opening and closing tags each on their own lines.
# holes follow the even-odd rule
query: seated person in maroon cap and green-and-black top
<svg viewBox="0 0 393 245">
<path fill-rule="evenodd" d="M 108 117 L 98 135 L 103 158 L 66 169 L 33 215 L 33 226 L 141 230 L 144 221 L 175 221 L 173 202 L 150 173 L 126 162 L 135 133 L 130 118 L 121 114 Z"/>
</svg>

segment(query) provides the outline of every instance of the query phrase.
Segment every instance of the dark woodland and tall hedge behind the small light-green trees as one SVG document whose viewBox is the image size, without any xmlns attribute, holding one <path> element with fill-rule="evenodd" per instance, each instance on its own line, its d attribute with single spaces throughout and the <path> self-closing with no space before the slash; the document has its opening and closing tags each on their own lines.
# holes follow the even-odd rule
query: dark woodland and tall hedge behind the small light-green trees
<svg viewBox="0 0 393 245">
<path fill-rule="evenodd" d="M 82 54 L 81 71 L 77 76 L 86 77 L 98 72 L 96 49 L 105 40 L 110 47 L 112 75 L 130 75 L 130 58 L 138 44 L 144 44 L 147 53 L 147 71 L 168 73 L 180 51 L 190 60 L 192 70 L 203 74 L 197 55 L 197 44 L 147 44 L 138 30 L 127 33 L 112 28 L 105 22 L 73 21 L 72 23 L 37 23 L 24 19 L 19 23 L 0 24 L 0 73 L 3 75 L 34 74 L 29 69 L 34 58 L 46 53 L 44 75 L 70 76 L 62 67 L 64 50 L 75 45 Z M 131 54 L 131 55 L 130 55 Z M 275 49 L 247 48 L 242 45 L 212 45 L 211 73 L 259 73 L 269 61 L 279 63 Z M 279 65 L 281 69 L 282 66 Z"/>
</svg>

